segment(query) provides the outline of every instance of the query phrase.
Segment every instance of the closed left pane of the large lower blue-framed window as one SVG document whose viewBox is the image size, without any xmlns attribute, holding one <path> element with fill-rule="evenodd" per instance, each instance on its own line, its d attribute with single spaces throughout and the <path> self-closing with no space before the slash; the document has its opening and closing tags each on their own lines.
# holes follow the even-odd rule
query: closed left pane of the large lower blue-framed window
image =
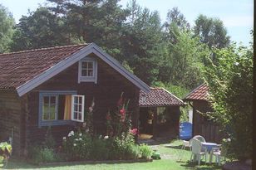
<svg viewBox="0 0 256 170">
<path fill-rule="evenodd" d="M 42 100 L 42 120 L 57 119 L 57 96 L 43 96 Z"/>
</svg>

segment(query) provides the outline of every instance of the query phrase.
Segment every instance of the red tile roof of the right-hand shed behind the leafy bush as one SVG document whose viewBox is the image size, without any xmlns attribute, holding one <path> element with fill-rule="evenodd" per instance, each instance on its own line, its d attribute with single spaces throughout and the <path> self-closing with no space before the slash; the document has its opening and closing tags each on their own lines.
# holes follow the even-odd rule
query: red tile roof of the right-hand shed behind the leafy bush
<svg viewBox="0 0 256 170">
<path fill-rule="evenodd" d="M 184 100 L 207 100 L 209 87 L 204 83 L 192 90 Z"/>
</svg>

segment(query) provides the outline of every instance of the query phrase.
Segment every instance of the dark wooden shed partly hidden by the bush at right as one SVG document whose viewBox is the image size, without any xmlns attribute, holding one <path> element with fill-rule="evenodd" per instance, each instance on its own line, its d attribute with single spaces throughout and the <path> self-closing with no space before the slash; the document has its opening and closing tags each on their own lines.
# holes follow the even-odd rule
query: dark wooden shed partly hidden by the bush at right
<svg viewBox="0 0 256 170">
<path fill-rule="evenodd" d="M 208 100 L 209 87 L 204 83 L 186 95 L 184 101 L 193 108 L 192 136 L 201 135 L 207 142 L 220 143 L 223 135 L 219 132 L 219 125 L 209 119 L 213 111 Z"/>
</svg>

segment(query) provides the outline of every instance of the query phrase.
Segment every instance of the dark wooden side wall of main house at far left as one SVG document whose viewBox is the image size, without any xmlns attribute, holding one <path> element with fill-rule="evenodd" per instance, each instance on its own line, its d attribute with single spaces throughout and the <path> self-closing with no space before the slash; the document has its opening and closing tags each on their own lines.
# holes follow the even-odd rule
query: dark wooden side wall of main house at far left
<svg viewBox="0 0 256 170">
<path fill-rule="evenodd" d="M 20 154 L 22 101 L 14 91 L 0 90 L 0 140 L 12 137 L 12 151 Z"/>
</svg>

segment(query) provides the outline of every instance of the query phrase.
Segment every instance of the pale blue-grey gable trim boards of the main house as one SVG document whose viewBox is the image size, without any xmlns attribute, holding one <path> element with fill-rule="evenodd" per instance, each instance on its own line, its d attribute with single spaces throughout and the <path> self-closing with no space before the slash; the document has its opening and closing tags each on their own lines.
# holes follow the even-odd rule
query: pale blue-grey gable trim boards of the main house
<svg viewBox="0 0 256 170">
<path fill-rule="evenodd" d="M 41 85 L 45 81 L 51 79 L 54 75 L 62 72 L 69 66 L 75 64 L 77 61 L 80 61 L 82 58 L 88 56 L 89 54 L 94 53 L 96 56 L 100 57 L 108 65 L 113 67 L 121 75 L 125 76 L 127 80 L 130 80 L 131 83 L 136 85 L 140 90 L 145 92 L 150 92 L 150 87 L 146 85 L 142 80 L 140 80 L 135 75 L 131 74 L 130 71 L 126 70 L 121 64 L 116 61 L 113 57 L 106 54 L 99 46 L 96 46 L 95 43 L 91 43 L 88 46 L 85 46 L 80 51 L 75 52 L 71 56 L 67 57 L 65 60 L 60 61 L 57 65 L 52 66 L 51 68 L 45 70 L 40 75 L 37 75 L 32 80 L 27 81 L 23 85 L 17 87 L 17 94 L 19 96 L 25 95 L 30 90 L 34 89 L 38 85 Z"/>
</svg>

